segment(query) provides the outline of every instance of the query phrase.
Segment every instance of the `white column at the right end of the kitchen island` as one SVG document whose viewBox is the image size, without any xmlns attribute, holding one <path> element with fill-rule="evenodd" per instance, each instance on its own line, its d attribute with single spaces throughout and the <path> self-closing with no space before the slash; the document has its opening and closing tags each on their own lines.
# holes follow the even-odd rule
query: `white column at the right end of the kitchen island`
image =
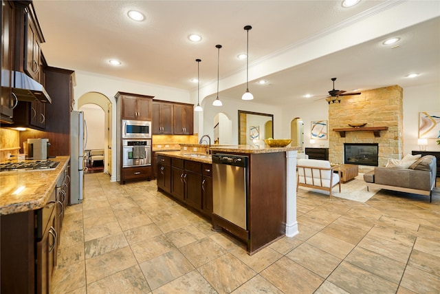
<svg viewBox="0 0 440 294">
<path fill-rule="evenodd" d="M 287 151 L 287 209 L 286 209 L 286 236 L 298 235 L 296 221 L 296 155 L 298 151 Z"/>
</svg>

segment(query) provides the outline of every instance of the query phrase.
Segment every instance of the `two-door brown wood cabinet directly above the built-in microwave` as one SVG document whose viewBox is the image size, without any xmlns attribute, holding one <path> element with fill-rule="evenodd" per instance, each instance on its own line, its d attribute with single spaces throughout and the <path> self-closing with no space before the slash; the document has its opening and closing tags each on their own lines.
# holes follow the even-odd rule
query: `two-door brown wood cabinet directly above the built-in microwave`
<svg viewBox="0 0 440 294">
<path fill-rule="evenodd" d="M 153 114 L 153 96 L 118 92 L 116 99 L 121 99 L 121 119 L 151 120 Z"/>
</svg>

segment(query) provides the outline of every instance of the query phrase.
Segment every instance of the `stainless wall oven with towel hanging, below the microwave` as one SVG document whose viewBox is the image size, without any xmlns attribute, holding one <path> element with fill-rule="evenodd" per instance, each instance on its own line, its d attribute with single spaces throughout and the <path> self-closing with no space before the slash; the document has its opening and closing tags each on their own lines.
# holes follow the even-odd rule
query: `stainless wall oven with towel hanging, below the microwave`
<svg viewBox="0 0 440 294">
<path fill-rule="evenodd" d="M 151 165 L 151 140 L 122 140 L 122 167 Z"/>
</svg>

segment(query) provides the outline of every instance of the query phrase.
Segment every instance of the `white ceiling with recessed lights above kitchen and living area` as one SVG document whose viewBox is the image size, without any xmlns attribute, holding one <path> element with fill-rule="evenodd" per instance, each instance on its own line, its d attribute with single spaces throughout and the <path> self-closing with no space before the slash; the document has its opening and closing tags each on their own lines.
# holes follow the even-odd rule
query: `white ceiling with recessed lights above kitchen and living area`
<svg viewBox="0 0 440 294">
<path fill-rule="evenodd" d="M 271 105 L 316 101 L 333 88 L 332 77 L 338 77 L 336 89 L 347 91 L 438 83 L 440 2 L 419 1 L 421 8 L 427 5 L 425 10 L 434 8 L 426 16 L 404 14 L 411 5 L 366 0 L 352 8 L 342 8 L 341 1 L 34 0 L 49 65 L 194 93 L 197 83 L 190 79 L 197 78 L 195 59 L 201 59 L 200 87 L 208 95 L 217 90 L 215 45 L 221 44 L 221 99 L 236 99 L 245 91 L 246 60 L 236 56 L 246 52 L 244 25 L 252 25 L 249 87 L 253 102 Z M 133 9 L 146 19 L 126 17 Z M 393 17 L 382 17 L 386 15 Z M 192 33 L 202 41 L 189 41 Z M 382 45 L 389 36 L 401 38 L 397 48 Z M 109 59 L 122 65 L 110 65 Z M 420 75 L 405 77 L 412 72 Z M 257 85 L 259 78 L 269 83 Z"/>
</svg>

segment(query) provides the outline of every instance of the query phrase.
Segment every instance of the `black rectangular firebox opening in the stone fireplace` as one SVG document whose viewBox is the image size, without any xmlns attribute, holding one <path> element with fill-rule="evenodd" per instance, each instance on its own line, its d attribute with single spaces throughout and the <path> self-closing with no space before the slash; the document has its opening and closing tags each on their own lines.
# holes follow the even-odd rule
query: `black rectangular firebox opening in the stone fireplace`
<svg viewBox="0 0 440 294">
<path fill-rule="evenodd" d="M 349 165 L 379 165 L 379 145 L 370 143 L 345 143 L 344 163 Z"/>
</svg>

